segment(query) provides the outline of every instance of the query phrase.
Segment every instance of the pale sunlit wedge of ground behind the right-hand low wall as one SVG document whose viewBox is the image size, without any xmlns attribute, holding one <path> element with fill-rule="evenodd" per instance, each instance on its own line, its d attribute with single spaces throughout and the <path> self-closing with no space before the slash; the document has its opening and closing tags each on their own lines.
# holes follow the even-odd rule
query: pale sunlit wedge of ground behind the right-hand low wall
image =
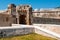
<svg viewBox="0 0 60 40">
<path fill-rule="evenodd" d="M 53 31 L 57 34 L 60 34 L 60 25 L 54 25 L 54 24 L 34 24 L 35 26 L 39 26 L 43 29 L 47 29 L 50 31 Z"/>
</svg>

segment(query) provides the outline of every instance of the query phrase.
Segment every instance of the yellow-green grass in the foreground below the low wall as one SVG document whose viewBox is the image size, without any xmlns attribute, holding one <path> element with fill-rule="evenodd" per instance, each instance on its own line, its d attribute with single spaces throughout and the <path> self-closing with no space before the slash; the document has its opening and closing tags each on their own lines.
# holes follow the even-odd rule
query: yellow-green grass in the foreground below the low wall
<svg viewBox="0 0 60 40">
<path fill-rule="evenodd" d="M 0 38 L 0 40 L 57 40 L 57 39 L 32 33 L 32 34 L 21 35 L 21 36 Z"/>
</svg>

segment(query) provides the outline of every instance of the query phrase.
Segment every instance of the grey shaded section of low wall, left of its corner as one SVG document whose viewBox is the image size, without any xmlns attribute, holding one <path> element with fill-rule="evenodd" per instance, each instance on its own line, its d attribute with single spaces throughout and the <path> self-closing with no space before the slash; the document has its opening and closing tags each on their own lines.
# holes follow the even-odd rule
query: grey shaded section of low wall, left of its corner
<svg viewBox="0 0 60 40">
<path fill-rule="evenodd" d="M 0 37 L 7 37 L 13 35 L 24 35 L 30 34 L 34 32 L 34 28 L 32 27 L 15 27 L 15 28 L 4 28 L 0 29 Z"/>
</svg>

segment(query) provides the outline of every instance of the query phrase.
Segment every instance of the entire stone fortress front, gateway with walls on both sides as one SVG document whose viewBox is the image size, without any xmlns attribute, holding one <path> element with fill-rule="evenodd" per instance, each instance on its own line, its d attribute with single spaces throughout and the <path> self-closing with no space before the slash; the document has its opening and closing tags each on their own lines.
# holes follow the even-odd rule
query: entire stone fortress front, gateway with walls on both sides
<svg viewBox="0 0 60 40">
<path fill-rule="evenodd" d="M 3 17 L 3 18 L 2 18 Z M 12 24 L 60 24 L 60 9 L 34 9 L 31 5 L 8 5 L 7 10 L 0 11 L 0 25 Z M 5 22 L 4 22 L 5 21 Z"/>
</svg>

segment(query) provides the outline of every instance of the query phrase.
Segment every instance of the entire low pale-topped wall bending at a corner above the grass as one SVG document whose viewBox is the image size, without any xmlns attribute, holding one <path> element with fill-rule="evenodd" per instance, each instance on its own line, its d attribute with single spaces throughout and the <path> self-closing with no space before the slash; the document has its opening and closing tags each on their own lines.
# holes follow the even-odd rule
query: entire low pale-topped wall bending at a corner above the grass
<svg viewBox="0 0 60 40">
<path fill-rule="evenodd" d="M 41 28 L 39 26 L 33 26 L 33 25 L 12 25 L 12 27 L 0 27 L 0 37 L 7 37 L 7 36 L 13 36 L 13 35 L 24 35 L 24 34 L 30 34 L 30 33 L 37 33 L 37 34 L 42 34 L 48 37 L 53 37 L 53 38 L 59 38 L 60 35 Z"/>
</svg>

